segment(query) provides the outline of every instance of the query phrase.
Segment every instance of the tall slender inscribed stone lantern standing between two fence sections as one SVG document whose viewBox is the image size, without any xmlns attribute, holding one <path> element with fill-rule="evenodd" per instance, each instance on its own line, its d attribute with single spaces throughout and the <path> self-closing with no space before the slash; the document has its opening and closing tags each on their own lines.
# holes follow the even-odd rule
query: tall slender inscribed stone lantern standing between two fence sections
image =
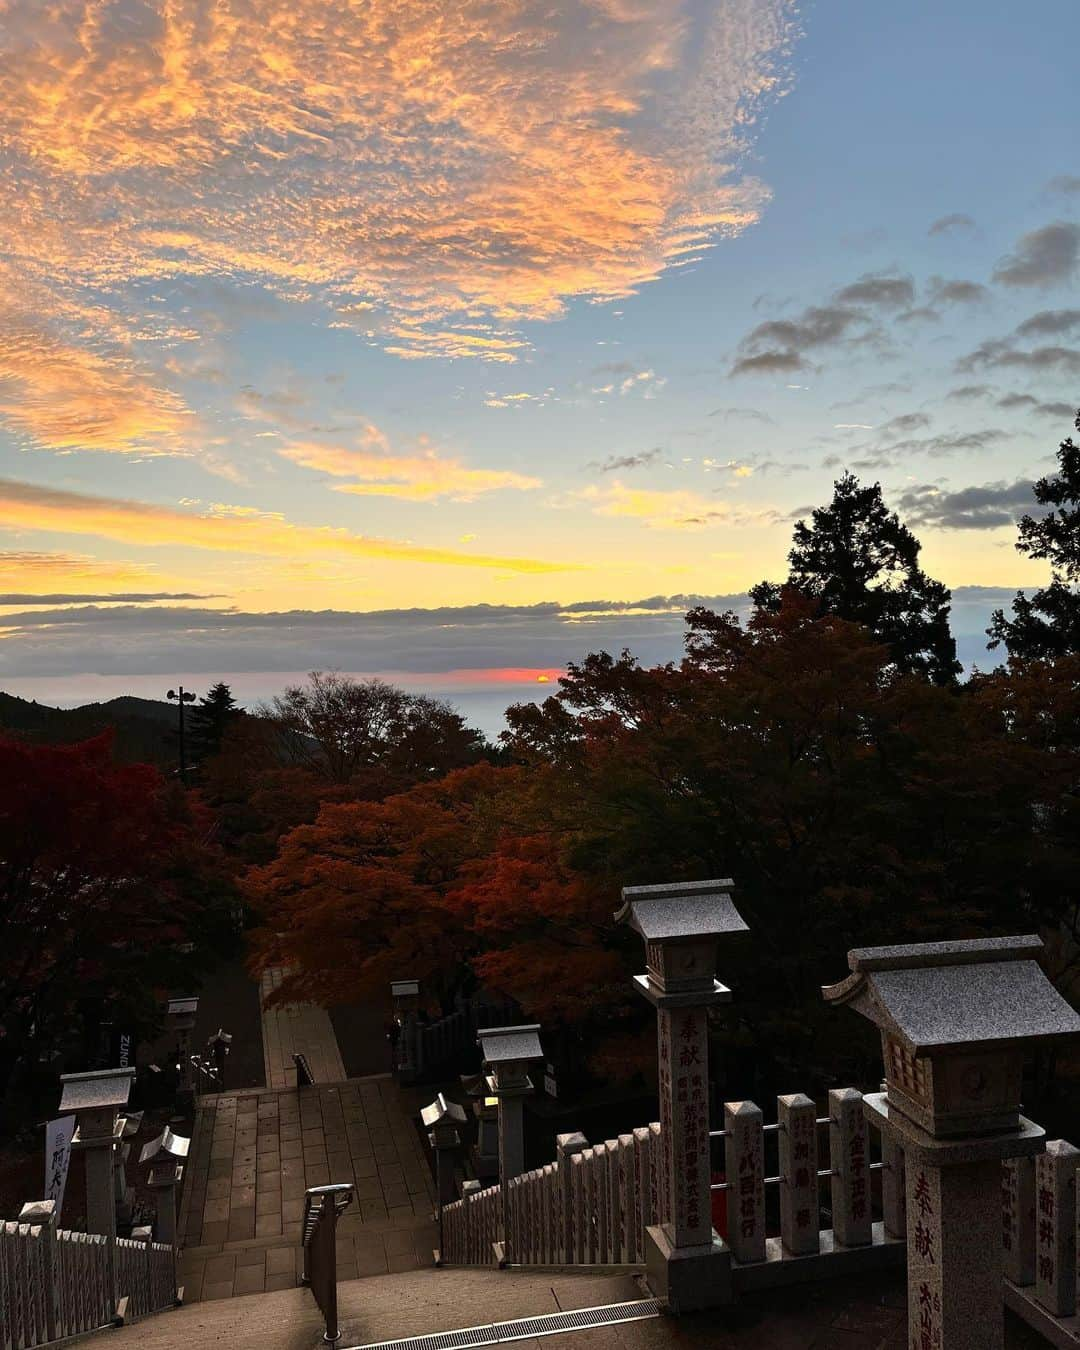
<svg viewBox="0 0 1080 1350">
<path fill-rule="evenodd" d="M 707 1010 L 732 994 L 716 979 L 721 938 L 748 932 L 732 882 L 628 886 L 616 914 L 645 941 L 637 991 L 656 1008 L 660 1219 L 645 1234 L 647 1278 L 674 1311 L 730 1299 L 730 1251 L 713 1233 Z"/>
</svg>

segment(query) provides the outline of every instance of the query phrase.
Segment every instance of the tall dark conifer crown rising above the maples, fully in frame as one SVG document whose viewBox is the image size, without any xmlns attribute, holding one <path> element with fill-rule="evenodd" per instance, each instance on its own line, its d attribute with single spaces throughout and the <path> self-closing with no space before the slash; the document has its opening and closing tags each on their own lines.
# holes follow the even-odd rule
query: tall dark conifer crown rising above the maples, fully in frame
<svg viewBox="0 0 1080 1350">
<path fill-rule="evenodd" d="M 949 630 L 950 593 L 919 567 L 921 544 L 853 474 L 833 485 L 833 500 L 795 525 L 787 586 L 817 601 L 819 613 L 861 624 L 888 648 L 900 674 L 950 684 L 960 672 Z M 751 590 L 759 610 L 780 608 L 780 586 Z"/>
</svg>

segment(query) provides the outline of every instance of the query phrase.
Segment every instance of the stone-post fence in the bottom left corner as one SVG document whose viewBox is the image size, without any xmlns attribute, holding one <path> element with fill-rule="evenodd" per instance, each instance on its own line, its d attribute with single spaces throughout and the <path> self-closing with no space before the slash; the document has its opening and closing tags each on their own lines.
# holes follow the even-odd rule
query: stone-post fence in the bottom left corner
<svg viewBox="0 0 1080 1350">
<path fill-rule="evenodd" d="M 176 1253 L 138 1238 L 55 1227 L 53 1202 L 0 1223 L 0 1350 L 28 1350 L 162 1312 L 177 1301 Z"/>
</svg>

